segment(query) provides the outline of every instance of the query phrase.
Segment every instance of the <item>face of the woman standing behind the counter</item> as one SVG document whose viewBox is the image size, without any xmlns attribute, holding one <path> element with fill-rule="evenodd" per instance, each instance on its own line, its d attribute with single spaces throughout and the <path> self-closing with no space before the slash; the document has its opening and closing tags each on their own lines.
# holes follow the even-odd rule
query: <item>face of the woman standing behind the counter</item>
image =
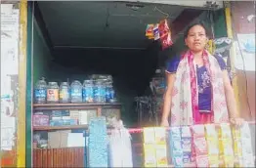
<svg viewBox="0 0 256 168">
<path fill-rule="evenodd" d="M 193 25 L 189 30 L 188 37 L 185 39 L 186 45 L 194 53 L 201 52 L 205 48 L 207 41 L 205 29 L 201 25 Z"/>
</svg>

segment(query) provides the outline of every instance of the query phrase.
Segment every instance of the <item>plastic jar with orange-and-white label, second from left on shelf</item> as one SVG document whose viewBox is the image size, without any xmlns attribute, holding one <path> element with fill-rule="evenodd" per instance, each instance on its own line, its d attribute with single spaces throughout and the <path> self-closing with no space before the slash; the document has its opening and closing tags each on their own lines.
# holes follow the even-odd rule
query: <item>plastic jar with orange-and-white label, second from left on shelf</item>
<svg viewBox="0 0 256 168">
<path fill-rule="evenodd" d="M 57 82 L 49 82 L 47 87 L 47 103 L 59 103 L 59 85 Z"/>
</svg>

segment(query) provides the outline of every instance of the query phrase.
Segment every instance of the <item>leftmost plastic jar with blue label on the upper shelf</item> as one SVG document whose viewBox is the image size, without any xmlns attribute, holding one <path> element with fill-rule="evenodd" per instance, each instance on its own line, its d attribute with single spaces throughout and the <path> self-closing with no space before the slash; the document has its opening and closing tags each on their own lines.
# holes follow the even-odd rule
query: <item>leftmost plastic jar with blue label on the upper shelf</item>
<svg viewBox="0 0 256 168">
<path fill-rule="evenodd" d="M 35 90 L 34 90 L 35 104 L 45 104 L 46 97 L 47 97 L 47 83 L 44 77 L 42 77 L 42 79 L 38 80 L 35 85 Z"/>
</svg>

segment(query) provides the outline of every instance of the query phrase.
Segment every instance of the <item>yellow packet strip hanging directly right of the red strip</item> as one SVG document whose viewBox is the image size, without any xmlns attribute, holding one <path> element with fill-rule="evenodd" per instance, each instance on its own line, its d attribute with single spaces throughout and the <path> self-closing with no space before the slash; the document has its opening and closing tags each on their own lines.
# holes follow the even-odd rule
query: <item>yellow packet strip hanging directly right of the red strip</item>
<svg viewBox="0 0 256 168">
<path fill-rule="evenodd" d="M 214 124 L 205 125 L 209 167 L 219 167 L 219 138 Z"/>
</svg>

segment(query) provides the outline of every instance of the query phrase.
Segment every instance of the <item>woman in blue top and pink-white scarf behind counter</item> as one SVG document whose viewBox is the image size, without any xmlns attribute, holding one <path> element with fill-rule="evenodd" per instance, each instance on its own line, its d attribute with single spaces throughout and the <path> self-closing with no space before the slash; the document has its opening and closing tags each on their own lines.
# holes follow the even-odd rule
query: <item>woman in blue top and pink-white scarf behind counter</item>
<svg viewBox="0 0 256 168">
<path fill-rule="evenodd" d="M 161 126 L 241 124 L 242 119 L 236 115 L 235 94 L 226 63 L 205 50 L 207 42 L 205 26 L 192 24 L 185 32 L 189 51 L 168 63 Z"/>
</svg>

